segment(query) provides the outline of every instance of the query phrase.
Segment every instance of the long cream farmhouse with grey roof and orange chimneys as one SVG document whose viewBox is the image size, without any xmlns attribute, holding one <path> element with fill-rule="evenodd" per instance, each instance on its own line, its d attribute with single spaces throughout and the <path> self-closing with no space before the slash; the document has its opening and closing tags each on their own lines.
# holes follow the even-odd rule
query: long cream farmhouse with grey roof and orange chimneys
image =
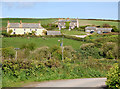
<svg viewBox="0 0 120 89">
<path fill-rule="evenodd" d="M 40 23 L 9 23 L 7 24 L 7 32 L 12 30 L 11 35 L 13 34 L 27 34 L 35 32 L 35 35 L 44 35 L 44 32 L 46 29 L 44 29 Z"/>
</svg>

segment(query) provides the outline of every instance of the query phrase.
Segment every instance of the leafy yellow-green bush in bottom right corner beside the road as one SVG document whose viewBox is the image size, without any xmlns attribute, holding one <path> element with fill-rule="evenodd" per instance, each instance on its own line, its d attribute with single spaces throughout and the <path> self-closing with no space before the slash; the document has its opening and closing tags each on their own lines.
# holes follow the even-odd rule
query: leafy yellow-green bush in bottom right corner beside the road
<svg viewBox="0 0 120 89">
<path fill-rule="evenodd" d="M 108 72 L 106 84 L 111 89 L 120 89 L 120 67 L 117 63 Z"/>
</svg>

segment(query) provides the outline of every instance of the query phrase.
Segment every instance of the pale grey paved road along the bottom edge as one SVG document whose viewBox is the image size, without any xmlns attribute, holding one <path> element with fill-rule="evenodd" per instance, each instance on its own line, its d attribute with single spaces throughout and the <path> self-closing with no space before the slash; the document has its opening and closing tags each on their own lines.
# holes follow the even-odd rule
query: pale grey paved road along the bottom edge
<svg viewBox="0 0 120 89">
<path fill-rule="evenodd" d="M 84 78 L 37 82 L 24 87 L 103 87 L 106 78 Z"/>
</svg>

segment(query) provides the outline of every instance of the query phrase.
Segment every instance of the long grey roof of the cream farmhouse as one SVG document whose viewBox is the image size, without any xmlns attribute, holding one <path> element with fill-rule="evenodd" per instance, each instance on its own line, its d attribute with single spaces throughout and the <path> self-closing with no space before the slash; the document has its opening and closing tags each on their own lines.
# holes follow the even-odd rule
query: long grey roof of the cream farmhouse
<svg viewBox="0 0 120 89">
<path fill-rule="evenodd" d="M 9 28 L 42 28 L 39 23 L 9 23 Z"/>
</svg>

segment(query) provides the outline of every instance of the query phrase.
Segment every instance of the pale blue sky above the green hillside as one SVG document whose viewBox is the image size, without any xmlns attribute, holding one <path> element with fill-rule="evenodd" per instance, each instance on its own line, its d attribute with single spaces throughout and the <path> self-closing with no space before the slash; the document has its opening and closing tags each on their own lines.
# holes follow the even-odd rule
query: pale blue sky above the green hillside
<svg viewBox="0 0 120 89">
<path fill-rule="evenodd" d="M 118 2 L 2 2 L 3 18 L 118 19 Z"/>
</svg>

